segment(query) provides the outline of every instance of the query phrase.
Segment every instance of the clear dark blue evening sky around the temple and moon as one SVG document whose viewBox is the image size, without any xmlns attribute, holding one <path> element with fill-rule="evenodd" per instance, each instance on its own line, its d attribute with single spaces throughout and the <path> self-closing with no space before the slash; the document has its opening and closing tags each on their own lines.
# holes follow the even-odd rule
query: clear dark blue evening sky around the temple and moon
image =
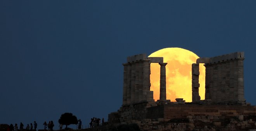
<svg viewBox="0 0 256 131">
<path fill-rule="evenodd" d="M 256 1 L 0 1 L 0 123 L 88 125 L 122 104 L 129 55 L 181 47 L 199 57 L 244 51 L 256 105 Z M 190 88 L 190 87 L 188 87 Z"/>
</svg>

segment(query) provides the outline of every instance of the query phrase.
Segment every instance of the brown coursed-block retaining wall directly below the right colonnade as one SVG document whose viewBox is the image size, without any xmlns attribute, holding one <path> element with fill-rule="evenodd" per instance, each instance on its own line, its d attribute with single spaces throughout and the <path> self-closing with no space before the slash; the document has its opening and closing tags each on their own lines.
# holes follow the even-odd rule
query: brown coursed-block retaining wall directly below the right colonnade
<svg viewBox="0 0 256 131">
<path fill-rule="evenodd" d="M 164 121 L 187 116 L 226 117 L 239 115 L 256 115 L 256 106 L 240 105 L 198 105 L 198 104 L 168 104 L 164 105 Z"/>
</svg>

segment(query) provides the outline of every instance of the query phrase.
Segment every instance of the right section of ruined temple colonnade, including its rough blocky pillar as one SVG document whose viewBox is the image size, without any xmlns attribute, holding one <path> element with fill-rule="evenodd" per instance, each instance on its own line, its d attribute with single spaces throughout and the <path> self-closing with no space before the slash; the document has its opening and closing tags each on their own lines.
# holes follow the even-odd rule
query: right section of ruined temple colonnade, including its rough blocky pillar
<svg viewBox="0 0 256 131">
<path fill-rule="evenodd" d="M 244 99 L 244 52 L 199 58 L 192 64 L 192 101 L 198 99 L 199 63 L 206 67 L 205 99 L 213 102 L 237 101 L 245 104 Z"/>
</svg>

